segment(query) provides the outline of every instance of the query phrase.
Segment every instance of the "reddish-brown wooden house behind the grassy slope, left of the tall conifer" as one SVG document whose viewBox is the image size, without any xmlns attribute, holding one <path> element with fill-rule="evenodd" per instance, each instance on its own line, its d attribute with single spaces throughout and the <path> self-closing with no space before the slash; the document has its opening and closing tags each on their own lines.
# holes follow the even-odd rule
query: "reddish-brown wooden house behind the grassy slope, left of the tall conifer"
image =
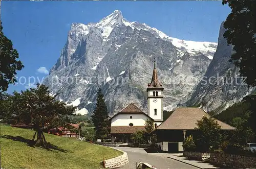
<svg viewBox="0 0 256 169">
<path fill-rule="evenodd" d="M 61 137 L 75 137 L 80 138 L 80 130 L 81 126 L 80 124 L 68 124 L 70 127 L 58 127 L 54 129 L 50 129 L 48 131 L 48 134 L 54 134 Z M 75 132 L 77 131 L 77 132 Z"/>
</svg>

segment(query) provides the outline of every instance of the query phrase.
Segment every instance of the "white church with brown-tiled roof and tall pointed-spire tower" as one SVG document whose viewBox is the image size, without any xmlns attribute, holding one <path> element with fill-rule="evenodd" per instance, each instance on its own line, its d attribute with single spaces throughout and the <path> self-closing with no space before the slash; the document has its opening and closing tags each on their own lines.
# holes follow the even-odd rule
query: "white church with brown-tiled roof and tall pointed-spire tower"
<svg viewBox="0 0 256 169">
<path fill-rule="evenodd" d="M 157 77 L 156 61 L 151 83 L 147 85 L 147 113 L 141 111 L 135 103 L 124 107 L 111 117 L 112 141 L 130 142 L 130 135 L 145 130 L 146 120 L 154 120 L 155 128 L 163 123 L 163 87 Z"/>
</svg>

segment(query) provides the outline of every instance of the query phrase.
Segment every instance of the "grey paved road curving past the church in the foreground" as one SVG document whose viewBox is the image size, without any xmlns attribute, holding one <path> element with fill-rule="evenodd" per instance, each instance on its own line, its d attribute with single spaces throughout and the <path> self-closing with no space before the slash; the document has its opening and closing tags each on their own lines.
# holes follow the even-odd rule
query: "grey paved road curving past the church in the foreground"
<svg viewBox="0 0 256 169">
<path fill-rule="evenodd" d="M 197 168 L 174 159 L 146 153 L 144 149 L 140 148 L 117 147 L 117 149 L 125 151 L 129 157 L 129 163 L 120 167 L 120 169 L 136 169 L 136 162 L 146 162 L 154 165 L 157 169 Z"/>
</svg>

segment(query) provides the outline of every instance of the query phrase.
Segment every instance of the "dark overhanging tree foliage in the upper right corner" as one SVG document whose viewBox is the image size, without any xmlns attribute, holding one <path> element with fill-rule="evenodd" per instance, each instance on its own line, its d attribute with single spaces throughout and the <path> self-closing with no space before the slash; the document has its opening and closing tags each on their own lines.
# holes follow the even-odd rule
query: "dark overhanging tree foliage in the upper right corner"
<svg viewBox="0 0 256 169">
<path fill-rule="evenodd" d="M 249 86 L 256 86 L 256 1 L 223 0 L 224 4 L 232 10 L 224 22 L 224 37 L 234 50 L 230 61 L 247 77 Z"/>
</svg>

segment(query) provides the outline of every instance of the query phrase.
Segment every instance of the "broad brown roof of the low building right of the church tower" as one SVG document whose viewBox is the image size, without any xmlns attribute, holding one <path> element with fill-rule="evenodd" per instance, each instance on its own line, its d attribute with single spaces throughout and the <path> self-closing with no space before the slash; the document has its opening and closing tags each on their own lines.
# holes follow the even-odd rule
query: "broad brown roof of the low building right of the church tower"
<svg viewBox="0 0 256 169">
<path fill-rule="evenodd" d="M 203 116 L 210 117 L 201 108 L 197 107 L 184 107 L 176 108 L 174 112 L 157 127 L 156 130 L 194 130 L 197 127 L 196 123 Z M 223 130 L 236 130 L 236 128 L 221 122 L 216 119 L 218 124 Z"/>
</svg>

